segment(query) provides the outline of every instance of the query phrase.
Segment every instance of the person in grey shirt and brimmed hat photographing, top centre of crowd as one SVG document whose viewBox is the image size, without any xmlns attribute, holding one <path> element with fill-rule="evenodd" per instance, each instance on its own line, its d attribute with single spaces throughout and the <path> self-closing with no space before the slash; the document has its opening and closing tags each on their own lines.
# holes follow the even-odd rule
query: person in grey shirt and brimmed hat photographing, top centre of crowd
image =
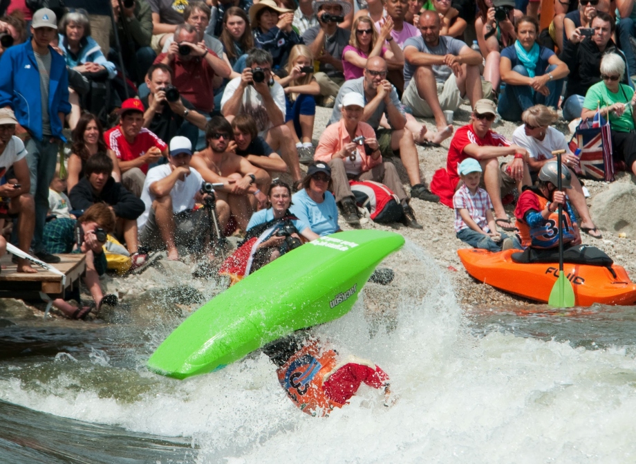
<svg viewBox="0 0 636 464">
<path fill-rule="evenodd" d="M 350 31 L 339 28 L 338 24 L 348 15 L 351 4 L 344 0 L 315 0 L 312 6 L 319 25 L 308 28 L 303 40 L 314 59 L 320 62 L 314 77 L 320 86 L 320 95 L 325 98 L 324 106 L 331 108 L 344 83 L 342 52 L 351 37 Z"/>
</svg>

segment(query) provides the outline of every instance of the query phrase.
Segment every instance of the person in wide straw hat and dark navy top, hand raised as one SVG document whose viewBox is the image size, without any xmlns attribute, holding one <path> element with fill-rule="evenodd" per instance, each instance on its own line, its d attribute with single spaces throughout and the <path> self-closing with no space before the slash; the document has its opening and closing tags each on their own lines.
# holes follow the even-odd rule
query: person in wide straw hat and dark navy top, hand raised
<svg viewBox="0 0 636 464">
<path fill-rule="evenodd" d="M 287 64 L 292 46 L 303 40 L 292 28 L 294 11 L 280 8 L 274 0 L 261 0 L 250 7 L 254 45 L 272 54 L 274 70 Z"/>
</svg>

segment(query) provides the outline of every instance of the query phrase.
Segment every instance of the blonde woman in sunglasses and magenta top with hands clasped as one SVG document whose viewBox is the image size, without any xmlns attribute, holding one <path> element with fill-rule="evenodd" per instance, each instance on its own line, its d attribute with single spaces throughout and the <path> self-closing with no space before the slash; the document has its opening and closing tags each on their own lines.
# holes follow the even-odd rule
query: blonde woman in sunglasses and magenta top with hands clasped
<svg viewBox="0 0 636 464">
<path fill-rule="evenodd" d="M 368 16 L 357 17 L 351 28 L 351 39 L 348 46 L 342 51 L 342 67 L 345 80 L 362 77 L 366 60 L 371 57 L 383 57 L 387 63 L 393 60 L 404 62 L 402 48 L 395 42 L 389 41 L 390 50 L 384 48 L 386 39 L 391 37 L 393 19 L 387 16 L 380 34 L 375 31 L 375 26 Z"/>
</svg>

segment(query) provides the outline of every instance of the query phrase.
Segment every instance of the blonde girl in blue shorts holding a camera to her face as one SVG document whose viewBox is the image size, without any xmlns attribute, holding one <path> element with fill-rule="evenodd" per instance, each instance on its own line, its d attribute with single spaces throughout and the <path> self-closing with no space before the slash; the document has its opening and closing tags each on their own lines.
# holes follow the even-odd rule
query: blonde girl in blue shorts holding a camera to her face
<svg viewBox="0 0 636 464">
<path fill-rule="evenodd" d="M 314 57 L 305 45 L 294 45 L 286 65 L 287 76 L 278 80 L 285 89 L 287 113 L 285 123 L 292 132 L 301 163 L 309 164 L 314 158 L 311 142 L 316 116 L 315 95 L 320 95 L 320 86 L 313 76 Z M 308 68 L 311 68 L 309 71 Z"/>
</svg>

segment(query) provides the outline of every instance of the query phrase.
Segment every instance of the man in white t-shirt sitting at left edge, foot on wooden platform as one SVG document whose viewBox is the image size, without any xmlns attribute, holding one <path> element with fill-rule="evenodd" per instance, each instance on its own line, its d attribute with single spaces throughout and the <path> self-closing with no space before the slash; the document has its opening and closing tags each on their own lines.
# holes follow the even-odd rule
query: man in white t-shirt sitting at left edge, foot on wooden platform
<svg viewBox="0 0 636 464">
<path fill-rule="evenodd" d="M 29 252 L 35 230 L 35 202 L 29 194 L 31 178 L 22 140 L 14 136 L 17 119 L 8 108 L 0 109 L 0 219 L 18 218 L 18 246 Z M 13 173 L 7 177 L 7 171 Z M 33 274 L 26 259 L 18 259 L 17 272 Z"/>
</svg>

